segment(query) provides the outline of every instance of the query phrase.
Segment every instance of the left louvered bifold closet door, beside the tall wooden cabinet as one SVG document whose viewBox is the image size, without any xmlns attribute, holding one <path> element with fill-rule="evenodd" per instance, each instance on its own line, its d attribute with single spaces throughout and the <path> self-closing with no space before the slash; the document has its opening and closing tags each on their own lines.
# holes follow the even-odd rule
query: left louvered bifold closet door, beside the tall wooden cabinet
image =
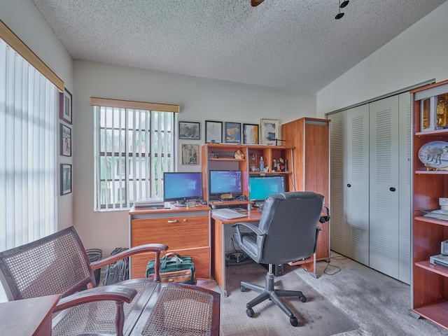
<svg viewBox="0 0 448 336">
<path fill-rule="evenodd" d="M 358 106 L 330 116 L 331 248 L 369 265 L 369 113 Z"/>
</svg>

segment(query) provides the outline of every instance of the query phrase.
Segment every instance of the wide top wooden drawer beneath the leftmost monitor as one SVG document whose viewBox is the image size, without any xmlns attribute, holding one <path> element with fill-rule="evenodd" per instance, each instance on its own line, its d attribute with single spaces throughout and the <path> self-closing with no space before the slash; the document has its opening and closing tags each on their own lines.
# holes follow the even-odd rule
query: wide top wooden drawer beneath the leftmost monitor
<svg viewBox="0 0 448 336">
<path fill-rule="evenodd" d="M 208 216 L 134 219 L 131 231 L 132 247 L 158 243 L 172 251 L 209 246 Z"/>
</svg>

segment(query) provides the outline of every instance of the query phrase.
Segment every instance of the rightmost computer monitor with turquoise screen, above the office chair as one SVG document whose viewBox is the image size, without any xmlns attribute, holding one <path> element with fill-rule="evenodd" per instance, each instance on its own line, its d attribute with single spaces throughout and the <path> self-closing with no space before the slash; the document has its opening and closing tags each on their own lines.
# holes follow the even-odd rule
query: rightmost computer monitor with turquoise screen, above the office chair
<svg viewBox="0 0 448 336">
<path fill-rule="evenodd" d="M 250 176 L 249 200 L 264 201 L 266 197 L 285 192 L 285 176 Z"/>
</svg>

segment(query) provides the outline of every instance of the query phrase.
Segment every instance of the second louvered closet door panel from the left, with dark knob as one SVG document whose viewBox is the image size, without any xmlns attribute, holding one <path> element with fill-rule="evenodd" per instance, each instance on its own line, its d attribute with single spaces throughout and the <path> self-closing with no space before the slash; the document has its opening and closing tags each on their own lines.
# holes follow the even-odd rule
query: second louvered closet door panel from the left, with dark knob
<svg viewBox="0 0 448 336">
<path fill-rule="evenodd" d="M 369 265 L 369 107 L 346 111 L 346 256 Z"/>
</svg>

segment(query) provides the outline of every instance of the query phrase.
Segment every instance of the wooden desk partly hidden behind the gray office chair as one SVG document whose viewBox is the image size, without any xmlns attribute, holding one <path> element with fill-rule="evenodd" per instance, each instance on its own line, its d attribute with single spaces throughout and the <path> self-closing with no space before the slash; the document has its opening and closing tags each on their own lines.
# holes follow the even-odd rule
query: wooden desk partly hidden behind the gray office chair
<svg viewBox="0 0 448 336">
<path fill-rule="evenodd" d="M 326 216 L 322 213 L 322 216 Z M 223 290 L 225 297 L 228 296 L 227 290 L 225 288 L 225 226 L 232 225 L 239 222 L 259 222 L 261 217 L 261 212 L 257 209 L 248 211 L 247 217 L 235 218 L 235 219 L 224 219 L 217 216 L 211 216 L 211 276 L 216 280 L 218 285 Z M 328 226 L 328 222 L 325 222 Z M 322 223 L 318 224 L 322 226 Z M 319 235 L 320 238 L 320 235 Z M 290 265 L 302 264 L 314 274 L 317 278 L 317 274 L 314 272 L 316 269 L 316 253 L 311 255 L 305 261 L 294 262 Z"/>
</svg>

